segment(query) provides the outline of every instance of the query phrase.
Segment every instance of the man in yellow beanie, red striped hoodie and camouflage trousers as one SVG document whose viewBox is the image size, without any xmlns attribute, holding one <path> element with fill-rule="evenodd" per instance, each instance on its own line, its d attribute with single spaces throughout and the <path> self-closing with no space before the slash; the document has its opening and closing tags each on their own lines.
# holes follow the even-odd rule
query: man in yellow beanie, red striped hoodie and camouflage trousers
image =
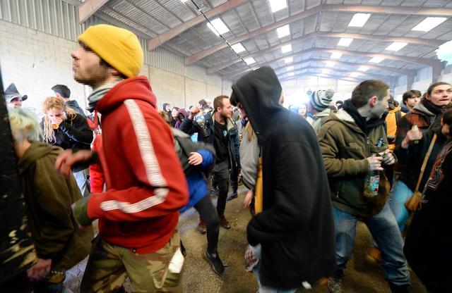
<svg viewBox="0 0 452 293">
<path fill-rule="evenodd" d="M 66 151 L 56 168 L 68 175 L 74 163 L 99 159 L 107 186 L 73 205 L 80 225 L 99 219 L 81 292 L 117 292 L 126 276 L 133 292 L 182 292 L 177 221 L 188 189 L 169 126 L 148 79 L 138 76 L 140 42 L 112 25 L 91 26 L 78 42 L 73 74 L 93 87 L 88 110 L 102 114 L 103 150 Z"/>
</svg>

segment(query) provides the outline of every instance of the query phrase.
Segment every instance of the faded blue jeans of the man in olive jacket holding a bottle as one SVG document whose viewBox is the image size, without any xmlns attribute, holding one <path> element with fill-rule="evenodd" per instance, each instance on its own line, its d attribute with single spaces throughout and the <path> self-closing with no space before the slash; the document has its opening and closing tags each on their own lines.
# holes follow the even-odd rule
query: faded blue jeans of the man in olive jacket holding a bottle
<svg viewBox="0 0 452 293">
<path fill-rule="evenodd" d="M 386 203 L 380 213 L 367 218 L 358 218 L 339 211 L 333 206 L 335 227 L 335 251 L 338 270 L 344 270 L 352 256 L 356 223 L 362 220 L 381 251 L 381 268 L 384 278 L 395 285 L 410 285 L 407 261 L 403 255 L 403 239 L 391 208 Z"/>
</svg>

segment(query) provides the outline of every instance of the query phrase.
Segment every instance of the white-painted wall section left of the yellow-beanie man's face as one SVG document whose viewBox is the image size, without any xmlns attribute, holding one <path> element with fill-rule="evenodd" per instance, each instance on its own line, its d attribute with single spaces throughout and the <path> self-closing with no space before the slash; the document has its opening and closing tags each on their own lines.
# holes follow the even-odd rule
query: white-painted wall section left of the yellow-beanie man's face
<svg viewBox="0 0 452 293">
<path fill-rule="evenodd" d="M 73 80 L 71 51 L 76 43 L 0 20 L 0 66 L 4 87 L 14 82 L 27 94 L 23 106 L 38 113 L 52 87 L 67 85 L 71 96 L 85 105 L 83 85 Z"/>
</svg>

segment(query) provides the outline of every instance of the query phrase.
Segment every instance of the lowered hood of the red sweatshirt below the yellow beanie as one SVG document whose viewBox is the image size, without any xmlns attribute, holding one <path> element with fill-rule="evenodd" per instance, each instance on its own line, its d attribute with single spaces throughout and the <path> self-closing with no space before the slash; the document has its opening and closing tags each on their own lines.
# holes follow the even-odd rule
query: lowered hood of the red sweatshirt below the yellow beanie
<svg viewBox="0 0 452 293">
<path fill-rule="evenodd" d="M 142 100 L 157 108 L 157 99 L 150 87 L 148 78 L 144 75 L 127 78 L 112 87 L 96 104 L 96 109 L 102 114 L 109 113 L 126 99 Z"/>
</svg>

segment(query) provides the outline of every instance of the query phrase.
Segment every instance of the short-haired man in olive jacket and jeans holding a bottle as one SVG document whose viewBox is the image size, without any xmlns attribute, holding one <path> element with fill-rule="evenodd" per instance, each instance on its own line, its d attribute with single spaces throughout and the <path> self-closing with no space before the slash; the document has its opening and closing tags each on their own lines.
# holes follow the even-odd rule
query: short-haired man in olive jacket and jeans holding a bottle
<svg viewBox="0 0 452 293">
<path fill-rule="evenodd" d="M 352 255 L 357 220 L 366 223 L 381 250 L 381 267 L 391 292 L 408 292 L 410 285 L 403 239 L 386 203 L 389 183 L 382 172 L 384 166 L 396 162 L 388 150 L 382 118 L 390 98 L 388 88 L 380 80 L 361 82 L 352 99 L 328 118 L 319 133 L 333 194 L 336 234 L 338 269 L 328 279 L 330 292 L 343 292 L 343 270 Z"/>
</svg>

